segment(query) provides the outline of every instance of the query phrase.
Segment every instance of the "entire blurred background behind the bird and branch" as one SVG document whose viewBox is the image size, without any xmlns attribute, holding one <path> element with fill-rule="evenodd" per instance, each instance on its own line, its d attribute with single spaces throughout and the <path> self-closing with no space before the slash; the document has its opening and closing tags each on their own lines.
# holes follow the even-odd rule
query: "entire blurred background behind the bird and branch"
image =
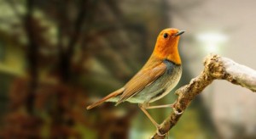
<svg viewBox="0 0 256 139">
<path fill-rule="evenodd" d="M 189 83 L 209 53 L 256 69 L 256 1 L 0 0 L 0 138 L 148 138 L 137 104 L 85 107 L 123 86 L 167 27 L 187 31 L 179 51 Z M 178 87 L 177 86 L 177 87 Z M 154 104 L 172 103 L 172 93 Z M 256 95 L 214 81 L 170 138 L 256 138 Z M 149 113 L 161 123 L 172 109 Z"/>
</svg>

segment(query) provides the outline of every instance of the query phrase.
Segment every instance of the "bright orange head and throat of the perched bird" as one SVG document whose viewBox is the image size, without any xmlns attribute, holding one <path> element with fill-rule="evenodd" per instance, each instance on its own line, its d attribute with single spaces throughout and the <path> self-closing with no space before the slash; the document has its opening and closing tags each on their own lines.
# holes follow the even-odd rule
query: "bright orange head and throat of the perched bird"
<svg viewBox="0 0 256 139">
<path fill-rule="evenodd" d="M 185 31 L 168 28 L 160 32 L 154 47 L 154 56 L 160 59 L 167 59 L 175 64 L 181 64 L 177 44 L 180 35 Z"/>
</svg>

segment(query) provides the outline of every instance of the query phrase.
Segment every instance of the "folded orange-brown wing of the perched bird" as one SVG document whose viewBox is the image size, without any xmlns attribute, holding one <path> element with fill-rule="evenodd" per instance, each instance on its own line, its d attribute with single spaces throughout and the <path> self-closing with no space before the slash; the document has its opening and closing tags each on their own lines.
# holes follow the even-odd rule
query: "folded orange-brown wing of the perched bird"
<svg viewBox="0 0 256 139">
<path fill-rule="evenodd" d="M 137 75 L 131 78 L 131 81 L 128 81 L 124 86 L 125 92 L 119 97 L 119 101 L 116 103 L 124 102 L 128 98 L 137 94 L 145 88 L 146 86 L 153 83 L 160 75 L 163 75 L 166 72 L 166 64 L 160 63 L 153 68 L 143 68 L 140 70 Z"/>
</svg>

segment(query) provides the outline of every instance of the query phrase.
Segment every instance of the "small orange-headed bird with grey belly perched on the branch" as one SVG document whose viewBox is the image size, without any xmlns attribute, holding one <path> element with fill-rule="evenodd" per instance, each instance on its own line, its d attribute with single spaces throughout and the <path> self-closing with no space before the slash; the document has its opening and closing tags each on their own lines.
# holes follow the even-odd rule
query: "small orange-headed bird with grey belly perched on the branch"
<svg viewBox="0 0 256 139">
<path fill-rule="evenodd" d="M 175 103 L 159 106 L 150 106 L 149 103 L 166 96 L 177 86 L 181 78 L 182 61 L 178 52 L 178 42 L 184 32 L 175 28 L 160 31 L 154 51 L 143 68 L 125 86 L 90 104 L 87 109 L 95 108 L 104 102 L 113 102 L 115 106 L 124 102 L 138 103 L 138 107 L 148 116 L 160 135 L 160 125 L 148 114 L 147 109 L 173 108 L 175 114 L 182 113 L 173 107 Z"/>
</svg>

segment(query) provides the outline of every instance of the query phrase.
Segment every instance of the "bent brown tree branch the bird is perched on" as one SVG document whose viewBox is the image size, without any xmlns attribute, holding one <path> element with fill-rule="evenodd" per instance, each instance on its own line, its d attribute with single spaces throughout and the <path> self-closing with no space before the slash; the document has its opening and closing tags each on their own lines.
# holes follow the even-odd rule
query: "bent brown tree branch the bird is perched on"
<svg viewBox="0 0 256 139">
<path fill-rule="evenodd" d="M 255 70 L 237 64 L 230 58 L 223 58 L 214 54 L 205 58 L 204 66 L 205 68 L 201 74 L 192 79 L 189 82 L 189 85 L 182 86 L 175 92 L 178 95 L 175 108 L 179 112 L 184 111 L 195 96 L 200 94 L 216 79 L 230 81 L 235 85 L 240 85 L 252 92 L 256 92 Z M 170 131 L 181 116 L 182 114 L 174 114 L 172 112 L 172 114 L 160 125 L 160 133 L 164 135 Z M 165 138 L 165 136 L 159 136 L 157 133 L 154 133 L 154 136 L 151 138 L 162 139 Z"/>
</svg>

